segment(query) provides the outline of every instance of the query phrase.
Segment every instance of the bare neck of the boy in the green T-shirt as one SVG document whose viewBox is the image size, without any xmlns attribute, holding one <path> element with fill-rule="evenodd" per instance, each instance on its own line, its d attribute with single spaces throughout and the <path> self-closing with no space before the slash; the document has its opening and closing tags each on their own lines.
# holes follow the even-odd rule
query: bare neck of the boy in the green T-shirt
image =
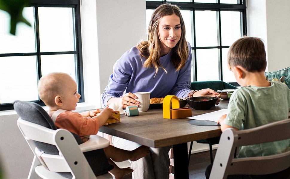
<svg viewBox="0 0 290 179">
<path fill-rule="evenodd" d="M 265 72 L 248 72 L 245 76 L 245 86 L 268 87 L 271 83 L 266 80 Z"/>
</svg>

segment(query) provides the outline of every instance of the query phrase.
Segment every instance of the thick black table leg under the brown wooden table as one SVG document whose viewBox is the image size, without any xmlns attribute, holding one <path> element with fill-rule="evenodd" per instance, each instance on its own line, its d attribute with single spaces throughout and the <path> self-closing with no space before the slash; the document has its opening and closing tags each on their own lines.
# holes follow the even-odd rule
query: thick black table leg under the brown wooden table
<svg viewBox="0 0 290 179">
<path fill-rule="evenodd" d="M 174 178 L 175 179 L 188 179 L 188 154 L 187 143 L 173 145 L 173 158 L 174 158 Z"/>
</svg>

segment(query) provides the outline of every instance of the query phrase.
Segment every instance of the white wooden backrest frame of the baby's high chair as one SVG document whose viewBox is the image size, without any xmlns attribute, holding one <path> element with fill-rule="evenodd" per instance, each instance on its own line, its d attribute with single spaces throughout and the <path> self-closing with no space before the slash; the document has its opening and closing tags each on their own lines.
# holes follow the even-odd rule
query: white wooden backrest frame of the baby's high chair
<svg viewBox="0 0 290 179">
<path fill-rule="evenodd" d="M 66 129 L 52 130 L 19 118 L 17 125 L 40 163 L 52 172 L 71 172 L 73 178 L 95 178 L 86 158 L 81 152 L 74 136 Z M 39 151 L 30 141 L 55 145 L 59 155 Z M 83 170 L 83 168 L 87 170 Z"/>
</svg>

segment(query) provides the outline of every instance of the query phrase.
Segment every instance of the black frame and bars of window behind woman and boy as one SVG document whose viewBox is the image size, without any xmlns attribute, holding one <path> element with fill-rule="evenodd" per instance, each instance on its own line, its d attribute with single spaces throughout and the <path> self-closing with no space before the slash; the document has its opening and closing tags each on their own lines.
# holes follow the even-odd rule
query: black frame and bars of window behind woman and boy
<svg viewBox="0 0 290 179">
<path fill-rule="evenodd" d="M 146 9 L 155 9 L 157 6 L 169 2 L 170 4 L 178 5 L 182 10 L 191 10 L 192 16 L 192 28 L 193 28 L 193 47 L 191 50 L 193 54 L 193 81 L 197 81 L 197 61 L 196 61 L 196 50 L 197 49 L 219 49 L 219 80 L 222 80 L 222 49 L 229 48 L 229 46 L 221 46 L 222 35 L 221 35 L 221 11 L 238 11 L 241 14 L 241 36 L 247 35 L 247 16 L 246 16 L 246 2 L 245 0 L 237 0 L 237 4 L 223 4 L 220 0 L 216 0 L 216 3 L 199 3 L 199 2 L 174 2 L 174 1 L 146 1 Z M 217 11 L 217 28 L 218 28 L 218 46 L 216 47 L 196 47 L 196 32 L 195 32 L 195 10 L 213 10 Z M 237 82 L 230 82 L 234 86 L 240 86 Z"/>
</svg>

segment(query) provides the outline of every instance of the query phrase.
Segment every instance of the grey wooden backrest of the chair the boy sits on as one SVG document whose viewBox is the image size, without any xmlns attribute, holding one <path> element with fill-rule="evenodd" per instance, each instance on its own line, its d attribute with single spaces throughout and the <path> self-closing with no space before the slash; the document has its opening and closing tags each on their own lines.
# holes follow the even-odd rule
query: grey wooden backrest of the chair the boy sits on
<svg viewBox="0 0 290 179">
<path fill-rule="evenodd" d="M 289 168 L 290 151 L 262 157 L 233 158 L 236 147 L 289 139 L 289 128 L 290 119 L 285 119 L 253 129 L 226 129 L 219 141 L 210 179 L 225 179 L 228 175 L 267 175 Z"/>
</svg>

